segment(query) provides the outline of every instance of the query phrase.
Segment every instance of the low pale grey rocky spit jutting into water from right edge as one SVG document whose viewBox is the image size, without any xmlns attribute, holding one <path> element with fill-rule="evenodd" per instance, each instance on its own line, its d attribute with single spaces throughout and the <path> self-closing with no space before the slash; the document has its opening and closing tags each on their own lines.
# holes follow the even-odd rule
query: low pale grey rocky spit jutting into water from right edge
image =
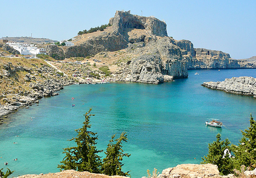
<svg viewBox="0 0 256 178">
<path fill-rule="evenodd" d="M 204 82 L 202 86 L 256 98 L 256 79 L 253 77 L 232 77 L 222 82 Z"/>
</svg>

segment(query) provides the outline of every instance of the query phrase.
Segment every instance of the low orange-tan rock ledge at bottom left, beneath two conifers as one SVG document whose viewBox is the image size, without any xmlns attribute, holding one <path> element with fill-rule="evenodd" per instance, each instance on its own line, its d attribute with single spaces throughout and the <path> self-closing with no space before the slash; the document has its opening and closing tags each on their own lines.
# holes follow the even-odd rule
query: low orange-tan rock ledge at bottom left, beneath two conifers
<svg viewBox="0 0 256 178">
<path fill-rule="evenodd" d="M 125 176 L 107 176 L 105 174 L 94 174 L 87 171 L 78 172 L 74 170 L 66 170 L 62 172 L 49 173 L 49 174 L 28 174 L 19 176 L 19 178 L 127 178 Z"/>
</svg>

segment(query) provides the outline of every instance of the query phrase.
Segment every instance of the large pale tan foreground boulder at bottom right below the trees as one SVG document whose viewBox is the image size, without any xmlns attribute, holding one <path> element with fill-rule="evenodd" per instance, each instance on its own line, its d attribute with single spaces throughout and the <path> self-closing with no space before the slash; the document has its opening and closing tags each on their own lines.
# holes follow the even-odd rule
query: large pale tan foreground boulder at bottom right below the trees
<svg viewBox="0 0 256 178">
<path fill-rule="evenodd" d="M 213 164 L 179 164 L 174 168 L 167 168 L 158 178 L 233 178 L 233 174 L 221 176 L 217 165 Z"/>
</svg>

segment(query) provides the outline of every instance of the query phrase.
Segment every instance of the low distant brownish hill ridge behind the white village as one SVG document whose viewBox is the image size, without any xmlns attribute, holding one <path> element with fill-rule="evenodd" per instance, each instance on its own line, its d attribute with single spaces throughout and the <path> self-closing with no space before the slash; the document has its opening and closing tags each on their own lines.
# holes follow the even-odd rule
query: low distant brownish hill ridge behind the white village
<svg viewBox="0 0 256 178">
<path fill-rule="evenodd" d="M 58 42 L 56 40 L 50 40 L 48 38 L 33 38 L 33 37 L 5 37 L 3 39 L 6 39 L 11 42 L 21 42 L 21 43 L 28 43 L 28 44 Z"/>
</svg>

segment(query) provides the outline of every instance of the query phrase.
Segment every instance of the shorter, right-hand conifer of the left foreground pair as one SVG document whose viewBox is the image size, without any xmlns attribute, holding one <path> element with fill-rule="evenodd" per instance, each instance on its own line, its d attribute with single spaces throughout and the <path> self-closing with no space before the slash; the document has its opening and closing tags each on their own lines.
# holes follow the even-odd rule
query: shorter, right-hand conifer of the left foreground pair
<svg viewBox="0 0 256 178">
<path fill-rule="evenodd" d="M 107 151 L 104 152 L 106 157 L 103 159 L 102 163 L 102 173 L 109 176 L 130 176 L 129 171 L 122 171 L 122 160 L 123 157 L 130 157 L 130 154 L 123 153 L 122 142 L 127 142 L 127 134 L 123 132 L 119 138 L 115 139 L 116 134 L 112 135 L 111 140 L 109 141 Z M 114 143 L 116 141 L 116 143 Z"/>
</svg>

